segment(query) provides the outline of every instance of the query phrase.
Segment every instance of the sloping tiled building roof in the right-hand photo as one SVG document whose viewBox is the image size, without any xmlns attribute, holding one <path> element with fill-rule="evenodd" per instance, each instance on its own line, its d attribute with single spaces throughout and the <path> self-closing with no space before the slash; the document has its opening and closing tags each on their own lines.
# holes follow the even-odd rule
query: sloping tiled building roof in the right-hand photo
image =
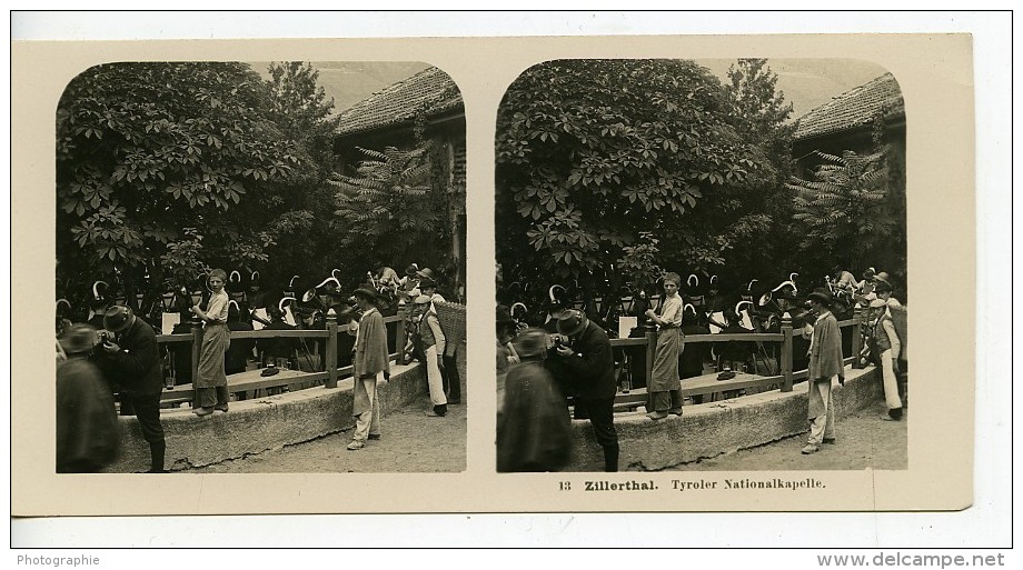
<svg viewBox="0 0 1023 570">
<path fill-rule="evenodd" d="M 868 127 L 882 108 L 886 109 L 885 119 L 906 116 L 902 89 L 891 73 L 846 91 L 801 117 L 795 140 Z"/>
</svg>

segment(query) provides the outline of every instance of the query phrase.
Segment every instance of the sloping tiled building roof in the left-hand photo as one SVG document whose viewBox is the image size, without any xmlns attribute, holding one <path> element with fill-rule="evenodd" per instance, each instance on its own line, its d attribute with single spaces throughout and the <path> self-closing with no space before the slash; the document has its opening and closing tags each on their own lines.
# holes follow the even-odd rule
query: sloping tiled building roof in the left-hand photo
<svg viewBox="0 0 1023 570">
<path fill-rule="evenodd" d="M 430 67 L 384 88 L 340 113 L 338 134 L 351 134 L 411 120 L 420 110 L 427 117 L 463 107 L 455 81 Z"/>
</svg>

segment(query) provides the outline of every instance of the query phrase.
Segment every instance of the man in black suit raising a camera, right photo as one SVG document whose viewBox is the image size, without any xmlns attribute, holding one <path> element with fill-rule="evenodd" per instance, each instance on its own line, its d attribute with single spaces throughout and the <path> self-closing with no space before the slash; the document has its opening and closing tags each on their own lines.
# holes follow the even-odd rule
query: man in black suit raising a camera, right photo
<svg viewBox="0 0 1023 570">
<path fill-rule="evenodd" d="M 589 412 L 597 442 L 604 448 L 604 470 L 618 470 L 618 433 L 615 431 L 615 360 L 610 339 L 583 311 L 568 309 L 558 317 L 555 358 Z"/>
</svg>

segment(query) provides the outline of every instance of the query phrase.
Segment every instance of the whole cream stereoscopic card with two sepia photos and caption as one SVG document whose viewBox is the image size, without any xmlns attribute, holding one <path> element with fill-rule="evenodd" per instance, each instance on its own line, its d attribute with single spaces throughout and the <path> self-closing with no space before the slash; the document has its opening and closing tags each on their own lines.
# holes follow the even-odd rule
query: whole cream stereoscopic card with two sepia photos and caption
<svg viewBox="0 0 1023 570">
<path fill-rule="evenodd" d="M 12 49 L 31 527 L 979 497 L 969 37 Z"/>
</svg>

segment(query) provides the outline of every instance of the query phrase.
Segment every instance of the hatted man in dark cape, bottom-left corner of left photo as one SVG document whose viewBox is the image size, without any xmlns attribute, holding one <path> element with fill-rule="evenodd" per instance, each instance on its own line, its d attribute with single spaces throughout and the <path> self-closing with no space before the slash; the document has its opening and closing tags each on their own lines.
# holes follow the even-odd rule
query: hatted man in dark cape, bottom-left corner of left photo
<svg viewBox="0 0 1023 570">
<path fill-rule="evenodd" d="M 57 367 L 57 472 L 100 471 L 117 459 L 120 427 L 110 388 L 89 361 L 96 329 L 72 324 L 57 340 L 67 354 Z"/>
</svg>

